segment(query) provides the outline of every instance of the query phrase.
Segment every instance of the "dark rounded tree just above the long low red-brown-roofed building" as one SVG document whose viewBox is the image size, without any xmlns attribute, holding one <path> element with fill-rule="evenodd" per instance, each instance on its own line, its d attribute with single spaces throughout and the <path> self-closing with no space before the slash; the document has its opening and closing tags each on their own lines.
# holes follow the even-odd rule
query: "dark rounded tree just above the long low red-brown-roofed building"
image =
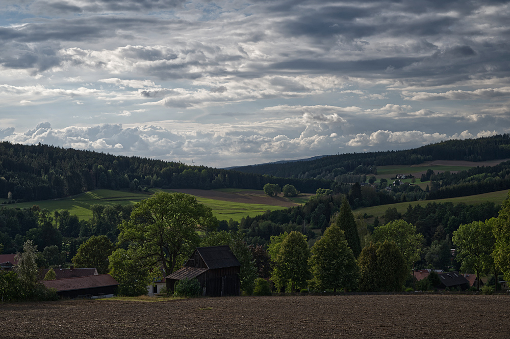
<svg viewBox="0 0 510 339">
<path fill-rule="evenodd" d="M 78 248 L 72 263 L 76 268 L 95 267 L 99 274 L 108 273 L 108 257 L 114 248 L 115 246 L 107 236 L 92 236 Z"/>
</svg>

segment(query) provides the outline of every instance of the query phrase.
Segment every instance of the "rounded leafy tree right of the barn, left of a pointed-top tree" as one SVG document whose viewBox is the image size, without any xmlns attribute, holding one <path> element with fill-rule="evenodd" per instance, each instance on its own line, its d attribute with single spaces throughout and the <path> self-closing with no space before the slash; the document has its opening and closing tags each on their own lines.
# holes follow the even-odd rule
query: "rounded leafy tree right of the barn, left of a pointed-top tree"
<svg viewBox="0 0 510 339">
<path fill-rule="evenodd" d="M 306 236 L 296 231 L 285 236 L 273 260 L 271 280 L 276 288 L 279 290 L 286 287 L 290 291 L 304 288 L 310 277 L 309 258 L 310 249 Z"/>
</svg>

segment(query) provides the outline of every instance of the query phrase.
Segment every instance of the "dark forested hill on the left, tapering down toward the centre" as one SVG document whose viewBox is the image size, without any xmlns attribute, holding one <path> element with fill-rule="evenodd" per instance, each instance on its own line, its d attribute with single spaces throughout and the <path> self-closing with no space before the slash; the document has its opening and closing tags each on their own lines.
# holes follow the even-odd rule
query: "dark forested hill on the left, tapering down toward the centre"
<svg viewBox="0 0 510 339">
<path fill-rule="evenodd" d="M 95 188 L 262 189 L 267 183 L 291 184 L 310 193 L 331 184 L 47 145 L 0 143 L 0 198 L 9 202 L 56 199 Z"/>
</svg>

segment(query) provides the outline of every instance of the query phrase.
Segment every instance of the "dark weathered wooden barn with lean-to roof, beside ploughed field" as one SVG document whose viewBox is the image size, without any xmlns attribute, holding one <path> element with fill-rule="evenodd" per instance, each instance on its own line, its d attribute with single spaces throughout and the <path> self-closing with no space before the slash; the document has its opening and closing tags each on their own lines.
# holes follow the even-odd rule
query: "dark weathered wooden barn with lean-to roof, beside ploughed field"
<svg viewBox="0 0 510 339">
<path fill-rule="evenodd" d="M 184 267 L 166 277 L 167 291 L 174 291 L 177 281 L 197 278 L 203 295 L 220 297 L 240 295 L 241 263 L 228 246 L 198 247 Z"/>
</svg>

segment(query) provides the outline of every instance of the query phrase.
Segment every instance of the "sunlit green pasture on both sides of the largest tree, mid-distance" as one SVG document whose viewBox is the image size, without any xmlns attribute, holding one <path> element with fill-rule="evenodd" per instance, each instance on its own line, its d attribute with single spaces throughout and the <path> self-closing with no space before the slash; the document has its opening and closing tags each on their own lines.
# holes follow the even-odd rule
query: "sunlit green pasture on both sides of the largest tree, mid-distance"
<svg viewBox="0 0 510 339">
<path fill-rule="evenodd" d="M 89 209 L 90 205 L 134 205 L 142 199 L 147 199 L 155 192 L 155 190 L 150 191 L 151 192 L 135 193 L 127 191 L 114 191 L 109 189 L 96 189 L 64 199 L 33 201 L 28 203 L 0 206 L 25 208 L 32 207 L 33 205 L 39 205 L 41 209 L 48 209 L 51 212 L 68 210 L 69 213 L 77 215 L 80 219 L 90 219 L 92 218 L 92 212 Z M 171 190 L 164 191 L 171 192 Z M 196 197 L 196 200 L 199 203 L 210 207 L 213 210 L 214 216 L 217 217 L 218 220 L 229 220 L 232 218 L 234 221 L 241 221 L 243 217 L 248 215 L 253 217 L 259 214 L 263 214 L 267 210 L 274 211 L 285 208 L 272 205 L 234 203 L 206 199 L 198 196 Z"/>
</svg>

